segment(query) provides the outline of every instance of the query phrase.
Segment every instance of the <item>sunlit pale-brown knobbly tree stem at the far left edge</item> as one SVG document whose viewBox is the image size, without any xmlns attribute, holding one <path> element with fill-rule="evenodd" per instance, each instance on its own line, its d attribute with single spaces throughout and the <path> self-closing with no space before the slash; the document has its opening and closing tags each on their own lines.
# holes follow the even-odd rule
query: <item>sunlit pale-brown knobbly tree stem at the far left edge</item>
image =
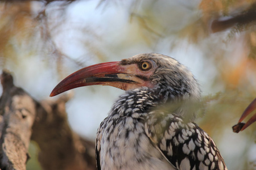
<svg viewBox="0 0 256 170">
<path fill-rule="evenodd" d="M 3 94 L 0 98 L 1 139 L 0 168 L 26 169 L 28 145 L 36 108 L 33 99 L 21 88 L 15 87 L 13 77 L 3 71 Z"/>
</svg>

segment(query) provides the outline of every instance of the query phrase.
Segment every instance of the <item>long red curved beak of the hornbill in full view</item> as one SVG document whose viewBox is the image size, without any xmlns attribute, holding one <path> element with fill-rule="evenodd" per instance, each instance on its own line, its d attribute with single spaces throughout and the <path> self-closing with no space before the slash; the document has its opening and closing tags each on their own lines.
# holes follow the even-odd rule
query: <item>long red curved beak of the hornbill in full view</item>
<svg viewBox="0 0 256 170">
<path fill-rule="evenodd" d="M 72 88 L 92 85 L 113 86 L 130 90 L 142 86 L 152 87 L 147 75 L 140 75 L 136 64 L 105 62 L 88 66 L 67 76 L 52 90 L 51 97 Z"/>
</svg>

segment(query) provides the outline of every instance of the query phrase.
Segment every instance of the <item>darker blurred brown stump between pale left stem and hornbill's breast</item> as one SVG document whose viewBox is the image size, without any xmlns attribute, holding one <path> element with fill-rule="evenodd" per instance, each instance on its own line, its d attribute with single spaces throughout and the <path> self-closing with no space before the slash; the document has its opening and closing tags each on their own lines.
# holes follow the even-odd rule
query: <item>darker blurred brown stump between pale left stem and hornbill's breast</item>
<svg viewBox="0 0 256 170">
<path fill-rule="evenodd" d="M 38 104 L 31 139 L 40 147 L 39 162 L 43 169 L 96 169 L 94 142 L 80 138 L 68 125 L 68 98 Z"/>
</svg>

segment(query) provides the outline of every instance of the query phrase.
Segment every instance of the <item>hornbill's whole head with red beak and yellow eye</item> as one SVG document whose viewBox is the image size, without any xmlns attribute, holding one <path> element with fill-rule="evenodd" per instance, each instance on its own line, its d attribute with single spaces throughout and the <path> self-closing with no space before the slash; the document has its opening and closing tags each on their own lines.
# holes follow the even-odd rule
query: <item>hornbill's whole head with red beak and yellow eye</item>
<svg viewBox="0 0 256 170">
<path fill-rule="evenodd" d="M 200 88 L 192 73 L 174 58 L 157 53 L 138 54 L 120 62 L 106 62 L 85 67 L 67 76 L 50 96 L 81 86 L 103 85 L 133 90 L 154 88 L 162 99 L 198 101 Z"/>
</svg>

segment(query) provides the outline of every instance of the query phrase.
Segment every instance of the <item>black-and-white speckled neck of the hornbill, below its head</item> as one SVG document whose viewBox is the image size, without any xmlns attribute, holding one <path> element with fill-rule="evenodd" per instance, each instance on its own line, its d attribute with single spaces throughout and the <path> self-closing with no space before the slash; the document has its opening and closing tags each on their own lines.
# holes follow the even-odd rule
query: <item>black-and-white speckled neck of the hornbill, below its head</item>
<svg viewBox="0 0 256 170">
<path fill-rule="evenodd" d="M 191 105 L 188 100 L 183 99 L 177 92 L 168 91 L 167 88 L 137 88 L 126 91 L 113 105 L 110 116 L 136 116 L 158 109 L 175 113 L 181 117 L 192 120 L 193 112 L 187 113 L 187 107 Z"/>
</svg>

